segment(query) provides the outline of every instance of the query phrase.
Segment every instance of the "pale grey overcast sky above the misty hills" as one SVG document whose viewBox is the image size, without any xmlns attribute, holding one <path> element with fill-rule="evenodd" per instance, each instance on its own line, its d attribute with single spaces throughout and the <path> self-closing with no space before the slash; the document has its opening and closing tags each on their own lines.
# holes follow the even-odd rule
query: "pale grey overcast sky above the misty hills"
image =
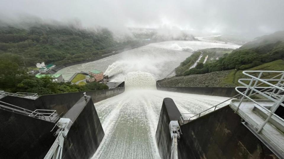
<svg viewBox="0 0 284 159">
<path fill-rule="evenodd" d="M 284 0 L 0 0 L 0 18 L 72 21 L 84 27 L 174 28 L 202 32 L 284 30 Z M 20 17 L 20 18 L 19 18 Z"/>
</svg>

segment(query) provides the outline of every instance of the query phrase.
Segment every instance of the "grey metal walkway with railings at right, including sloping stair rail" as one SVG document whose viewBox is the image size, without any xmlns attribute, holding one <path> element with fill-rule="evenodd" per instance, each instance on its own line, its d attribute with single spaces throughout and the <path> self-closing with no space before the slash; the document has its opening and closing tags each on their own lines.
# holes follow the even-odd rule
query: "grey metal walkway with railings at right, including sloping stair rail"
<svg viewBox="0 0 284 159">
<path fill-rule="evenodd" d="M 284 71 L 243 71 L 243 74 L 248 78 L 239 79 L 238 82 L 244 87 L 235 88 L 241 99 L 228 99 L 233 99 L 230 107 L 241 116 L 243 124 L 262 143 L 278 158 L 284 158 L 284 119 L 275 114 L 279 107 L 284 107 Z M 276 76 L 263 79 L 264 74 Z M 246 91 L 241 92 L 240 88 Z M 254 99 L 258 97 L 262 99 Z M 215 111 L 218 105 L 198 114 L 182 114 L 179 123 L 183 125 Z"/>
</svg>

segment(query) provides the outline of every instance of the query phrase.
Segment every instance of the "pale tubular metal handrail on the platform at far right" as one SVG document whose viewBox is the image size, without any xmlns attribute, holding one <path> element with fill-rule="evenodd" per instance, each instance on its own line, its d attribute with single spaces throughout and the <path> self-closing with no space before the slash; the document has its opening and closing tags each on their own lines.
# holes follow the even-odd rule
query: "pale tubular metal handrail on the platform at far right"
<svg viewBox="0 0 284 159">
<path fill-rule="evenodd" d="M 255 77 L 255 76 L 252 76 L 250 74 L 248 74 L 249 72 L 254 72 L 254 73 L 259 73 L 258 77 Z M 279 73 L 277 76 L 281 76 L 280 79 L 277 79 L 277 80 L 267 80 L 267 79 L 261 79 L 261 75 L 262 73 L 264 72 L 270 72 L 270 73 Z M 252 102 L 254 102 L 256 105 L 259 105 L 261 108 L 263 108 L 264 110 L 266 110 L 267 112 L 269 112 L 269 115 L 268 117 L 266 118 L 266 120 L 262 123 L 262 125 L 260 126 L 260 128 L 257 130 L 257 133 L 260 133 L 261 130 L 263 129 L 263 127 L 266 125 L 266 123 L 270 120 L 270 118 L 273 116 L 277 117 L 280 121 L 284 122 L 284 120 L 279 117 L 278 115 L 275 114 L 275 111 L 277 110 L 277 108 L 282 105 L 284 106 L 284 104 L 282 103 L 284 101 L 284 95 L 282 95 L 281 98 L 273 98 L 272 95 L 273 94 L 276 94 L 278 96 L 281 96 L 280 95 L 280 92 L 284 92 L 284 82 L 283 84 L 281 84 L 282 81 L 284 81 L 284 71 L 243 71 L 243 74 L 248 76 L 248 77 L 251 77 L 251 79 L 239 79 L 238 82 L 242 85 L 244 85 L 245 87 L 236 87 L 235 90 L 237 92 L 239 92 L 241 95 L 242 95 L 242 98 L 241 98 L 241 101 L 239 102 L 235 112 L 238 111 L 239 107 L 241 106 L 241 103 L 243 102 L 243 99 L 246 97 L 247 99 L 251 100 Z M 243 80 L 250 80 L 249 82 L 249 85 L 245 84 L 244 82 L 242 82 Z M 256 87 L 255 84 L 254 86 L 251 86 L 252 83 L 255 81 L 255 83 L 257 83 L 258 81 L 265 83 L 266 85 L 268 85 L 269 87 Z M 276 81 L 277 84 L 271 84 L 267 81 Z M 280 87 L 278 87 L 278 85 Z M 238 90 L 238 88 L 246 88 L 246 91 L 244 93 L 242 93 L 241 91 Z M 267 95 L 267 91 L 265 92 L 262 92 L 262 91 L 259 91 L 257 90 L 257 88 L 270 88 L 270 90 L 272 90 L 272 92 L 270 93 L 270 95 Z M 272 111 L 271 110 L 268 110 L 267 108 L 265 108 L 264 106 L 260 105 L 258 102 L 256 102 L 255 100 L 251 99 L 249 95 L 247 95 L 248 91 L 251 90 L 252 91 L 255 91 L 255 93 L 258 93 L 264 97 L 266 97 L 267 99 L 271 100 L 272 102 L 274 102 L 273 106 L 272 106 Z M 277 93 L 275 93 L 275 91 L 277 91 Z"/>
</svg>

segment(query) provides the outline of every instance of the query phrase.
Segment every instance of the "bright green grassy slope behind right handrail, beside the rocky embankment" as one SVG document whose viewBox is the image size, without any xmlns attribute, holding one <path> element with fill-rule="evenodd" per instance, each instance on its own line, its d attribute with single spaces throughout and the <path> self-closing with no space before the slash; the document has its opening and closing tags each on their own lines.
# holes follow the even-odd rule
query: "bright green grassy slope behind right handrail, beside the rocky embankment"
<svg viewBox="0 0 284 159">
<path fill-rule="evenodd" d="M 262 70 L 262 71 L 283 71 L 284 70 L 284 60 L 279 59 L 273 62 L 268 62 L 256 67 L 253 67 L 251 69 L 246 69 L 246 70 L 252 70 L 252 71 L 256 71 L 256 70 Z M 223 80 L 224 84 L 228 84 L 228 85 L 232 85 L 232 86 L 239 86 L 238 83 L 238 79 L 240 78 L 246 78 L 246 76 L 243 75 L 243 71 L 245 70 L 232 70 L 232 72 L 230 72 L 225 79 Z M 275 74 L 271 74 L 271 73 L 265 73 L 263 74 L 262 78 L 272 78 L 274 77 Z"/>
</svg>

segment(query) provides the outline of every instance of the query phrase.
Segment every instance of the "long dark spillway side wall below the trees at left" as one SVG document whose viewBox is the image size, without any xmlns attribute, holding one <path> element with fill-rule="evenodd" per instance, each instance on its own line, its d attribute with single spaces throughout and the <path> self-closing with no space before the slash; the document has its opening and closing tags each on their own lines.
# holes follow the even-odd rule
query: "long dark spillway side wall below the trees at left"
<svg viewBox="0 0 284 159">
<path fill-rule="evenodd" d="M 86 91 L 86 94 L 92 97 L 94 103 L 99 102 L 123 93 L 125 90 L 124 82 L 121 85 L 123 87 L 115 89 Z M 32 111 L 47 109 L 57 110 L 58 114 L 65 114 L 81 97 L 83 97 L 83 92 L 42 95 L 36 100 L 12 96 L 7 96 L 0 100 Z"/>
</svg>

